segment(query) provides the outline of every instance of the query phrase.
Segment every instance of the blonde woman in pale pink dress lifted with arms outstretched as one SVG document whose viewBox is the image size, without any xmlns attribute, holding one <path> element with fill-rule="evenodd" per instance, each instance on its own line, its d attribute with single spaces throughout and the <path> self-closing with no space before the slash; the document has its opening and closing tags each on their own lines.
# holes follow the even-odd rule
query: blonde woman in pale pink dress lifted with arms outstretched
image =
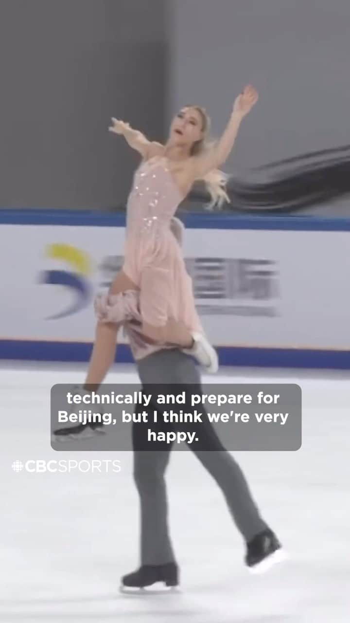
<svg viewBox="0 0 350 623">
<path fill-rule="evenodd" d="M 196 180 L 206 181 L 214 203 L 225 199 L 225 176 L 218 168 L 229 156 L 240 123 L 257 98 L 253 87 L 245 87 L 214 146 L 206 145 L 209 118 L 201 107 L 185 107 L 178 113 L 166 145 L 148 141 L 127 123 L 113 119 L 109 130 L 123 135 L 143 162 L 128 199 L 123 269 L 116 275 L 108 296 L 98 297 L 95 303 L 98 323 L 85 390 L 97 389 L 114 361 L 115 326 L 126 313 L 125 297 L 118 295 L 126 290 L 140 293 L 144 335 L 159 343 L 191 349 L 209 371 L 217 370 L 216 353 L 205 336 L 169 313 L 174 290 L 179 289 L 174 285 L 188 283 L 181 249 L 169 223 Z"/>
</svg>

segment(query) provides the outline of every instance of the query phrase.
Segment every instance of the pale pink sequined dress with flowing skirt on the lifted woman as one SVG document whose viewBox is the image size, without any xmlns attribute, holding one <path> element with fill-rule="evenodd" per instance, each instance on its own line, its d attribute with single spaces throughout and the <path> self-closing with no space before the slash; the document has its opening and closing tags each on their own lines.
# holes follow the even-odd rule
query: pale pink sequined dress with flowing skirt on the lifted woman
<svg viewBox="0 0 350 623">
<path fill-rule="evenodd" d="M 128 199 L 123 270 L 140 288 L 144 322 L 164 326 L 175 318 L 203 333 L 192 280 L 170 229 L 182 198 L 164 161 L 141 164 Z"/>
</svg>

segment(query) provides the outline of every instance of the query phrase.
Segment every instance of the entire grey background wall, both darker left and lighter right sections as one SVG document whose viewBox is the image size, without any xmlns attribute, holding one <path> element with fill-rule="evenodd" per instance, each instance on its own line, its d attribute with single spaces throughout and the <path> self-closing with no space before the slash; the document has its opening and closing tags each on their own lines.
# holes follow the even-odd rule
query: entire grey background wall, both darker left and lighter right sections
<svg viewBox="0 0 350 623">
<path fill-rule="evenodd" d="M 110 117 L 162 140 L 198 102 L 218 136 L 246 82 L 227 171 L 350 143 L 349 23 L 348 0 L 1 0 L 0 207 L 125 204 L 138 158 Z"/>
</svg>

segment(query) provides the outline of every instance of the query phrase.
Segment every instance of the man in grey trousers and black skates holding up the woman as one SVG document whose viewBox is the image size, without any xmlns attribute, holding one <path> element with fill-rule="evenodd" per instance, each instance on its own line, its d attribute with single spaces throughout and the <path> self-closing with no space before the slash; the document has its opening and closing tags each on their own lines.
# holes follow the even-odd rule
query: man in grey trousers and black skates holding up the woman
<svg viewBox="0 0 350 623">
<path fill-rule="evenodd" d="M 149 345 L 147 338 L 140 333 L 140 326 L 141 318 L 135 317 L 125 323 L 143 386 L 162 384 L 167 386 L 169 393 L 175 394 L 179 386 L 190 386 L 191 391 L 201 393 L 201 379 L 194 360 L 178 348 L 164 349 L 161 345 Z M 153 412 L 153 408 L 149 405 L 150 411 Z M 186 405 L 181 405 L 181 408 L 191 411 L 191 406 L 186 408 Z M 176 424 L 167 426 L 176 429 Z M 183 425 L 179 426 L 183 429 Z M 158 443 L 156 450 L 147 450 L 144 442 L 147 427 L 147 424 L 133 425 L 134 478 L 141 506 L 141 567 L 121 579 L 123 587 L 145 587 L 159 581 L 167 586 L 176 586 L 179 582 L 179 570 L 168 530 L 164 480 L 171 447 L 164 444 L 161 449 Z M 200 444 L 191 448 L 224 494 L 235 525 L 247 546 L 245 563 L 250 568 L 267 568 L 270 563 L 281 559 L 281 545 L 260 516 L 242 470 L 225 450 L 212 425 L 203 422 L 200 432 Z"/>
</svg>

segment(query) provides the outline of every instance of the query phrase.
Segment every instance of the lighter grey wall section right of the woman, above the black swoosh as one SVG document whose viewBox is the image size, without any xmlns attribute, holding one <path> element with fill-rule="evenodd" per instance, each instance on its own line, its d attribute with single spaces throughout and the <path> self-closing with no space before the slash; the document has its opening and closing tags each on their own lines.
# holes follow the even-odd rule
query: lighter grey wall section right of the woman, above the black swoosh
<svg viewBox="0 0 350 623">
<path fill-rule="evenodd" d="M 200 103 L 218 136 L 240 88 L 251 82 L 260 93 L 226 171 L 350 143 L 349 0 L 170 5 L 168 120 L 184 103 Z M 348 201 L 335 207 L 342 211 Z"/>
</svg>

